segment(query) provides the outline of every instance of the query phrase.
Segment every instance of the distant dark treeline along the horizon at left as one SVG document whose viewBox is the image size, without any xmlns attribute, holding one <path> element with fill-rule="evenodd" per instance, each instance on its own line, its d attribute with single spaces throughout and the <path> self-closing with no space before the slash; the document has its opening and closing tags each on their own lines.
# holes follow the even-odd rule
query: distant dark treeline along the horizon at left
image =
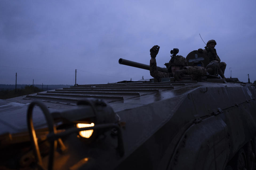
<svg viewBox="0 0 256 170">
<path fill-rule="evenodd" d="M 23 89 L 25 86 L 31 86 L 31 84 L 17 84 L 17 89 Z M 47 88 L 48 86 L 48 88 Z M 63 84 L 58 84 L 58 85 L 44 85 L 43 84 L 43 89 L 42 89 L 42 84 L 34 84 L 34 87 L 37 87 L 38 89 L 42 91 L 46 90 L 54 90 L 54 89 L 60 89 L 64 87 L 70 87 L 73 85 L 63 85 Z M 13 90 L 15 89 L 15 84 L 0 84 L 0 90 Z"/>
</svg>

